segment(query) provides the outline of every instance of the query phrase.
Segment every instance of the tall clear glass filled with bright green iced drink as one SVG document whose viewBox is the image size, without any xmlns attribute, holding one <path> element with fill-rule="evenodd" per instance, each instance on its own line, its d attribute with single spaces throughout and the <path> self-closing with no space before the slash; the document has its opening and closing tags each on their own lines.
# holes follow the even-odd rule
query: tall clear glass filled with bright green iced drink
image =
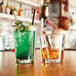
<svg viewBox="0 0 76 76">
<path fill-rule="evenodd" d="M 25 27 L 26 28 L 26 27 Z M 35 27 L 25 30 L 14 30 L 14 41 L 17 63 L 32 63 L 35 48 Z"/>
</svg>

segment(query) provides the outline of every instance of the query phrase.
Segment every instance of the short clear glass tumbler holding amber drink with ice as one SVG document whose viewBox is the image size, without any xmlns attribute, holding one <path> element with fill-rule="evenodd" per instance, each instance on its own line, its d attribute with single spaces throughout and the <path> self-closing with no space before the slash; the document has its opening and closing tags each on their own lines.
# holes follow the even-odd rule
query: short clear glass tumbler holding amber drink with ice
<svg viewBox="0 0 76 76">
<path fill-rule="evenodd" d="M 41 56 L 45 63 L 60 63 L 63 60 L 64 35 L 47 34 L 40 36 Z"/>
</svg>

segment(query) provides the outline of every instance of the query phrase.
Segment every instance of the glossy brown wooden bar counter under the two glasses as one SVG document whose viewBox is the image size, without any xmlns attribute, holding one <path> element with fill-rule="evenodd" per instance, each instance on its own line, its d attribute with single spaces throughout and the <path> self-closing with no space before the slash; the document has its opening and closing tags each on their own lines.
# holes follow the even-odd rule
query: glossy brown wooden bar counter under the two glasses
<svg viewBox="0 0 76 76">
<path fill-rule="evenodd" d="M 32 64 L 16 64 L 14 52 L 0 52 L 0 76 L 76 76 L 76 51 L 64 51 L 62 63 L 44 64 L 35 50 Z"/>
</svg>

